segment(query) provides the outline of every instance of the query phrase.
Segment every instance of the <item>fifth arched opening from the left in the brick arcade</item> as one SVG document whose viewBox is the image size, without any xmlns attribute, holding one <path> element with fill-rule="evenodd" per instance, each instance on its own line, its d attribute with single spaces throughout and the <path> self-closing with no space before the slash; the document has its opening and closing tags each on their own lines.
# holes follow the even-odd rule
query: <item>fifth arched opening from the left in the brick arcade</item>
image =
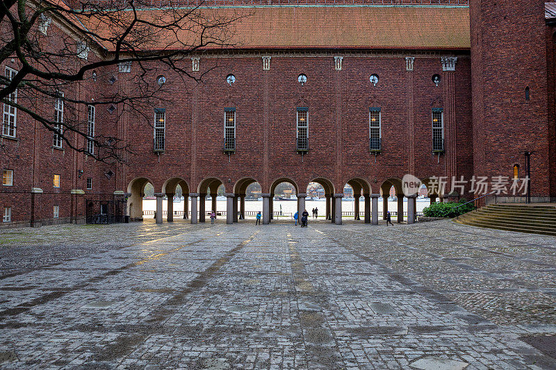
<svg viewBox="0 0 556 370">
<path fill-rule="evenodd" d="M 297 184 L 289 178 L 279 178 L 270 185 L 270 219 L 292 219 L 299 212 Z"/>
</svg>

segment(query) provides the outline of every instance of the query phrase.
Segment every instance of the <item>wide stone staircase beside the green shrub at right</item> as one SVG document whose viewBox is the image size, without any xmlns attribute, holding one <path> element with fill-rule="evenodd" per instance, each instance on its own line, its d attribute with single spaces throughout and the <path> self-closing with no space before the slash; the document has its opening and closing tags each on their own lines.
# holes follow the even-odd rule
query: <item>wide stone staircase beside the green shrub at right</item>
<svg viewBox="0 0 556 370">
<path fill-rule="evenodd" d="M 556 236 L 556 206 L 492 204 L 455 218 L 481 228 Z"/>
</svg>

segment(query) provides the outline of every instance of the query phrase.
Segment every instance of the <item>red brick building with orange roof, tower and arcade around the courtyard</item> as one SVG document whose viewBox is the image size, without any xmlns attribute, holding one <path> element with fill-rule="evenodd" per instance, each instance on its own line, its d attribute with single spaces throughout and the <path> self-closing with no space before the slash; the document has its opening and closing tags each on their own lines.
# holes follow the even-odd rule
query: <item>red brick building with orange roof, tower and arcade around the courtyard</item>
<svg viewBox="0 0 556 370">
<path fill-rule="evenodd" d="M 163 81 L 160 100 L 140 112 L 96 109 L 95 130 L 131 146 L 125 165 L 55 147 L 50 131 L 19 114 L 15 134 L 2 137 L 0 227 L 82 222 L 100 207 L 142 219 L 147 183 L 154 186 L 159 222 L 163 196 L 177 185 L 190 196 L 186 215 L 191 212 L 192 222 L 206 214 L 198 197 L 212 193 L 215 199 L 224 185 L 232 222 L 255 181 L 265 224 L 271 194 L 283 181 L 294 185 L 300 209 L 307 185 L 320 183 L 326 213 L 337 224 L 349 184 L 356 199 L 365 197 L 364 221 L 375 224 L 376 200 L 392 186 L 403 210 L 406 174 L 426 184 L 441 176 L 511 178 L 517 165 L 524 177 L 525 151 L 534 151 L 533 199 L 556 200 L 556 13 L 550 4 L 545 12 L 537 0 L 503 6 L 493 0 L 470 6 L 463 0 L 341 6 L 226 1 L 201 11 L 240 16 L 230 28 L 234 47 L 204 48 L 182 65 L 202 83 L 155 64 L 148 78 L 153 85 Z M 156 18 L 159 10 L 144 11 Z M 67 33 L 56 19 L 49 27 L 53 40 Z M 88 58 L 102 58 L 98 49 L 91 45 Z M 18 65 L 1 68 L 17 71 Z M 136 68 L 106 67 L 99 70 L 102 78 L 65 94 L 96 99 L 129 91 Z M 90 112 L 73 114 L 90 119 Z M 450 185 L 430 192 L 432 199 L 447 198 Z M 468 192 L 466 186 L 466 196 L 473 196 Z M 411 197 L 410 214 L 414 206 Z M 171 221 L 171 201 L 168 207 Z"/>
</svg>

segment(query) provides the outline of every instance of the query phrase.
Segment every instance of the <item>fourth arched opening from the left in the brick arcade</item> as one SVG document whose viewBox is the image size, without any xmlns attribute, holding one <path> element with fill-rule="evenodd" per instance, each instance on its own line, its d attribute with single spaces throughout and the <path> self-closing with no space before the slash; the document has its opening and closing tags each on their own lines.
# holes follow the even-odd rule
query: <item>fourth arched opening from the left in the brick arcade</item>
<svg viewBox="0 0 556 370">
<path fill-rule="evenodd" d="M 263 197 L 261 184 L 254 178 L 242 178 L 234 185 L 234 222 L 238 219 L 255 219 L 257 212 L 263 212 Z M 239 199 L 239 212 L 237 212 Z M 246 203 L 247 202 L 247 203 Z"/>
</svg>

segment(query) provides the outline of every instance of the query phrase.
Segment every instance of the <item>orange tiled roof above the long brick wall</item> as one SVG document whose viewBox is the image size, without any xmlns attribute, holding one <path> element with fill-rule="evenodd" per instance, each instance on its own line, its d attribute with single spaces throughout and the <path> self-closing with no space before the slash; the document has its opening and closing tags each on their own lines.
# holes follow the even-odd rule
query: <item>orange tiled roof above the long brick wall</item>
<svg viewBox="0 0 556 370">
<path fill-rule="evenodd" d="M 202 19 L 234 19 L 225 34 L 215 38 L 224 45 L 204 49 L 469 49 L 469 9 L 441 6 L 261 6 L 200 8 Z M 139 12 L 156 22 L 170 15 L 165 10 Z M 111 26 L 83 21 L 109 35 Z M 186 49 L 198 35 L 184 22 L 173 35 L 158 32 L 142 41 L 141 49 Z M 211 33 L 208 33 L 211 35 Z M 104 46 L 113 49 L 110 43 Z"/>
</svg>

